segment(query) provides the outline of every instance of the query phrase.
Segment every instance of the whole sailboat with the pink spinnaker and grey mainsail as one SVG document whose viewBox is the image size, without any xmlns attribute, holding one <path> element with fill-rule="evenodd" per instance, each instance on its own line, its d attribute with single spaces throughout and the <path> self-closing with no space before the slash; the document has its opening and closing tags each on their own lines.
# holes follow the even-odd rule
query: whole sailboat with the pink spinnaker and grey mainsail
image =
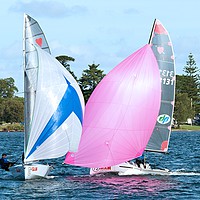
<svg viewBox="0 0 200 200">
<path fill-rule="evenodd" d="M 139 53 L 144 49 L 145 51 L 148 49 L 147 55 L 144 52 Z M 156 62 L 152 64 L 149 61 L 144 64 L 142 62 L 144 55 L 150 56 L 149 54 L 152 54 L 151 60 L 155 59 Z M 126 70 L 131 67 L 133 69 L 136 67 L 138 71 L 127 72 Z M 154 84 L 156 83 L 157 87 L 161 87 L 162 90 L 157 88 L 153 92 L 151 90 L 153 82 L 147 77 L 149 78 L 152 70 L 157 67 L 159 74 L 154 72 Z M 127 73 L 129 76 L 124 75 Z M 138 84 L 142 83 L 142 86 L 138 87 L 141 93 L 144 92 L 144 87 L 150 86 L 145 90 L 149 94 L 139 101 L 138 97 L 141 94 L 133 89 L 136 84 L 135 77 L 138 76 L 141 77 L 138 79 Z M 121 84 L 117 84 L 117 79 L 122 85 L 124 82 L 126 86 L 122 87 Z M 149 43 L 111 71 L 91 95 L 86 105 L 83 135 L 78 152 L 68 153 L 65 163 L 90 167 L 91 175 L 107 172 L 117 172 L 119 175 L 169 174 L 167 169 L 151 169 L 150 165 L 141 168 L 129 161 L 141 156 L 145 150 L 167 151 L 174 108 L 174 88 L 172 43 L 164 26 L 159 20 L 155 20 Z M 106 91 L 104 92 L 103 89 Z M 125 94 L 126 98 L 124 98 Z M 154 103 L 148 107 L 153 96 L 155 97 Z M 118 101 L 115 98 L 118 98 Z M 132 100 L 132 106 L 125 107 L 124 99 Z M 124 108 L 123 111 L 121 111 L 122 108 Z M 92 109 L 95 109 L 94 114 Z M 154 112 L 156 109 L 159 110 L 158 113 Z M 100 115 L 98 115 L 99 112 Z M 157 113 L 156 116 L 153 112 Z M 140 118 L 141 113 L 145 114 Z M 121 128 L 121 124 L 125 126 Z"/>
</svg>

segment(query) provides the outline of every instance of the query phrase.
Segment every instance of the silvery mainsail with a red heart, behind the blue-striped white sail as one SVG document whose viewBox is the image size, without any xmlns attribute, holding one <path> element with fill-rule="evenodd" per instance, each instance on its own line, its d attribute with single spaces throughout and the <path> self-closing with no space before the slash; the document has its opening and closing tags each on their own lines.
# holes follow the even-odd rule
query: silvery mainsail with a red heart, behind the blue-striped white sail
<svg viewBox="0 0 200 200">
<path fill-rule="evenodd" d="M 39 45 L 50 53 L 45 35 L 38 22 L 27 14 L 24 14 L 23 33 L 23 54 L 24 54 L 24 98 L 25 98 L 25 140 L 24 151 L 26 151 L 30 134 L 30 124 L 33 118 L 35 104 L 35 91 L 37 82 L 38 60 L 33 45 Z"/>
</svg>

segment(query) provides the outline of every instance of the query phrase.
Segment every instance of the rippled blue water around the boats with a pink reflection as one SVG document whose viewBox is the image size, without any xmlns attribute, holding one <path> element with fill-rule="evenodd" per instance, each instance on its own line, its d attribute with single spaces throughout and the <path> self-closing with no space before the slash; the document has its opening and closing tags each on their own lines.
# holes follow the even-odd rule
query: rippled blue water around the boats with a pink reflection
<svg viewBox="0 0 200 200">
<path fill-rule="evenodd" d="M 23 151 L 23 133 L 0 133 L 0 153 L 10 161 Z M 200 199 L 200 132 L 172 132 L 169 154 L 147 154 L 155 167 L 170 176 L 101 175 L 89 169 L 62 165 L 64 158 L 50 160 L 52 179 L 19 181 L 0 177 L 0 199 Z M 20 160 L 19 160 L 20 161 Z"/>
</svg>

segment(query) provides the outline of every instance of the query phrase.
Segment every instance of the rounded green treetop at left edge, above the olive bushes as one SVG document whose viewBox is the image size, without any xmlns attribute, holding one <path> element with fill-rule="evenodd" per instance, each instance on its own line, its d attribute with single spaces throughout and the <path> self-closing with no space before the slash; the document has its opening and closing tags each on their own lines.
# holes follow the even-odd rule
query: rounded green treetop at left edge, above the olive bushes
<svg viewBox="0 0 200 200">
<path fill-rule="evenodd" d="M 0 98 L 14 97 L 15 92 L 18 92 L 13 78 L 0 79 Z"/>
</svg>

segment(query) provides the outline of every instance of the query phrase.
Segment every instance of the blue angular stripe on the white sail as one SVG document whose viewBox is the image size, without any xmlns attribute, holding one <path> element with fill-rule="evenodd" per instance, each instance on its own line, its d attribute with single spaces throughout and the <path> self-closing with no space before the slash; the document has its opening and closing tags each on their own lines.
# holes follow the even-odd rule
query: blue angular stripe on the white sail
<svg viewBox="0 0 200 200">
<path fill-rule="evenodd" d="M 72 112 L 76 114 L 80 123 L 82 124 L 83 110 L 79 96 L 67 79 L 66 82 L 68 87 L 62 100 L 60 101 L 60 104 L 58 105 L 57 110 L 53 113 L 26 159 L 62 125 L 62 123 L 70 116 Z"/>
</svg>

